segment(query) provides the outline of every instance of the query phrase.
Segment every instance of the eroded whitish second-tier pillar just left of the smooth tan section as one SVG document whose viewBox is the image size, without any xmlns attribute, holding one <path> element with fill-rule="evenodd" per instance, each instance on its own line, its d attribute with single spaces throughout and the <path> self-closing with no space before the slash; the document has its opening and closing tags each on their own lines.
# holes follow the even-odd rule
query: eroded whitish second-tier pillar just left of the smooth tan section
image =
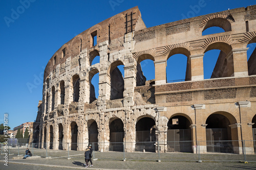
<svg viewBox="0 0 256 170">
<path fill-rule="evenodd" d="M 134 62 L 125 64 L 124 69 L 124 92 L 123 105 L 124 107 L 132 107 L 134 105 L 133 94 L 136 86 L 136 67 Z"/>
</svg>

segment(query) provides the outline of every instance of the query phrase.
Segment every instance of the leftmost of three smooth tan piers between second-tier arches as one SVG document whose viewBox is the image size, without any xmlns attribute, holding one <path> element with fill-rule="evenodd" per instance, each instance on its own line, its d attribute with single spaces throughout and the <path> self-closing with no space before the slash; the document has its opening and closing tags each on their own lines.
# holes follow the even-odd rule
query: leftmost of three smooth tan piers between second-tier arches
<svg viewBox="0 0 256 170">
<path fill-rule="evenodd" d="M 156 85 L 166 83 L 166 60 L 154 61 Z"/>
</svg>

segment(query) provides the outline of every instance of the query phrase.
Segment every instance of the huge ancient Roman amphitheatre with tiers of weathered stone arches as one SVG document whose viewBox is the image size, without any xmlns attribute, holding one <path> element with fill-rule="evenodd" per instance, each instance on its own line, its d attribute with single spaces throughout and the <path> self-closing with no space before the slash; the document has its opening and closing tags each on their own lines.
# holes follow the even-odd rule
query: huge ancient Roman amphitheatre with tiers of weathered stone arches
<svg viewBox="0 0 256 170">
<path fill-rule="evenodd" d="M 211 27 L 224 32 L 202 35 Z M 186 152 L 195 153 L 197 141 L 208 152 L 218 140 L 230 141 L 233 153 L 248 141 L 246 150 L 254 154 L 256 50 L 249 60 L 247 50 L 255 42 L 256 5 L 151 28 L 138 7 L 108 18 L 49 60 L 36 119 L 40 148 L 67 150 L 72 143 L 72 150 L 84 150 L 94 142 L 95 150 L 112 151 L 120 142 L 126 152 L 172 152 L 168 142 L 190 141 Z M 203 59 L 210 50 L 220 54 L 205 79 Z M 187 58 L 185 80 L 168 82 L 166 62 L 176 54 Z M 154 62 L 155 79 L 143 75 L 143 60 Z M 96 74 L 98 87 L 92 84 Z"/>
</svg>

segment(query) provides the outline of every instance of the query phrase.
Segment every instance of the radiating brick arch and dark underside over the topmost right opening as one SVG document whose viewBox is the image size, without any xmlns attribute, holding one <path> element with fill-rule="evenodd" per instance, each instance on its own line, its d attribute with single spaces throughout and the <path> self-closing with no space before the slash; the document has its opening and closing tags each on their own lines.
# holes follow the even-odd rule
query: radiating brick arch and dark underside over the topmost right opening
<svg viewBox="0 0 256 170">
<path fill-rule="evenodd" d="M 210 27 L 220 27 L 225 32 L 231 31 L 231 23 L 234 22 L 234 18 L 231 14 L 213 14 L 208 17 L 206 17 L 199 25 L 199 29 L 206 30 Z"/>
</svg>

